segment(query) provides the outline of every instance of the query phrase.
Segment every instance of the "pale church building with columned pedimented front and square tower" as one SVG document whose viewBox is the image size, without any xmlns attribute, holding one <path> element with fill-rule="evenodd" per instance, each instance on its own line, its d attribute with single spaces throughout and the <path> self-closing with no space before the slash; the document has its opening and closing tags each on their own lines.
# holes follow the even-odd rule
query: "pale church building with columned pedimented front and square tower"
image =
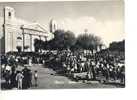
<svg viewBox="0 0 137 100">
<path fill-rule="evenodd" d="M 42 25 L 16 18 L 15 9 L 5 7 L 0 17 L 1 53 L 10 51 L 34 51 L 34 40 L 50 40 L 53 34 Z"/>
</svg>

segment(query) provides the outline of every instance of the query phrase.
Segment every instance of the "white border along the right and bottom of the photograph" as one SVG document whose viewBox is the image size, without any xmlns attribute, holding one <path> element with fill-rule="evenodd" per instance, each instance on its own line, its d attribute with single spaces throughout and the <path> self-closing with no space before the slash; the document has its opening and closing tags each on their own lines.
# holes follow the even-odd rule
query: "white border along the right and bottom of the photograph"
<svg viewBox="0 0 137 100">
<path fill-rule="evenodd" d="M 3 2 L 9 0 L 1 0 Z M 20 1 L 20 0 L 16 0 Z M 22 0 L 28 1 L 28 0 Z M 29 0 L 37 1 L 37 0 Z M 47 1 L 47 0 L 40 0 Z M 55 1 L 55 0 L 51 0 Z M 61 0 L 60 0 L 61 1 Z M 64 0 L 63 0 L 64 1 Z M 66 0 L 65 0 L 66 1 Z M 67 0 L 68 1 L 68 0 Z M 72 1 L 72 0 L 69 0 Z M 81 0 L 75 0 L 81 1 Z M 93 0 L 90 0 L 93 1 Z M 1 100 L 129 100 L 137 99 L 137 0 L 125 0 L 126 88 L 124 89 L 50 89 L 0 91 Z"/>
</svg>

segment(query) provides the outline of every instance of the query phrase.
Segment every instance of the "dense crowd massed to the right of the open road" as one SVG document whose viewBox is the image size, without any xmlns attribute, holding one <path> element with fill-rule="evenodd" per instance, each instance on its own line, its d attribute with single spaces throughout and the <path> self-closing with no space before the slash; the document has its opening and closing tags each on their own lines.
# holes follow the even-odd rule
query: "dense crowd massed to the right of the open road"
<svg viewBox="0 0 137 100">
<path fill-rule="evenodd" d="M 90 55 L 90 56 L 89 56 Z M 104 82 L 117 81 L 125 84 L 124 57 L 121 55 L 106 54 L 85 54 L 82 52 L 61 51 L 58 52 L 54 60 L 49 64 L 53 69 L 61 69 L 64 75 L 71 78 L 76 77 L 76 73 L 86 73 L 87 80 L 102 80 Z"/>
</svg>

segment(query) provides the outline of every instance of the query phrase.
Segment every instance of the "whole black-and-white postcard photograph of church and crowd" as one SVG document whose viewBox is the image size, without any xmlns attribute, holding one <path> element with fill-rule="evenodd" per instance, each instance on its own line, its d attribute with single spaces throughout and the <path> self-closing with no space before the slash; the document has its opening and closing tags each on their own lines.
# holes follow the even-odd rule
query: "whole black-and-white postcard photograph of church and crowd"
<svg viewBox="0 0 137 100">
<path fill-rule="evenodd" d="M 125 88 L 124 0 L 0 2 L 1 90 Z"/>
</svg>

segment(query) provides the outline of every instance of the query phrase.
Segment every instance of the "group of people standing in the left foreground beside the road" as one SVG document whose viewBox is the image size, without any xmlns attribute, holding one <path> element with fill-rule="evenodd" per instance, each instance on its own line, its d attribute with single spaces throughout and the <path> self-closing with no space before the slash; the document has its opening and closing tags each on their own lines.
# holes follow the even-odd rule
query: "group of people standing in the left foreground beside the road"
<svg viewBox="0 0 137 100">
<path fill-rule="evenodd" d="M 8 61 L 9 60 L 9 61 Z M 12 63 L 10 60 L 12 60 Z M 5 61 L 5 62 L 3 62 Z M 34 86 L 38 85 L 38 74 L 37 70 L 32 72 L 30 66 L 22 66 L 22 70 L 18 69 L 18 65 L 16 65 L 16 60 L 14 57 L 10 57 L 10 59 L 2 60 L 2 78 L 5 79 L 4 87 L 6 89 L 28 89 L 32 87 L 32 79 L 34 78 Z"/>
</svg>

